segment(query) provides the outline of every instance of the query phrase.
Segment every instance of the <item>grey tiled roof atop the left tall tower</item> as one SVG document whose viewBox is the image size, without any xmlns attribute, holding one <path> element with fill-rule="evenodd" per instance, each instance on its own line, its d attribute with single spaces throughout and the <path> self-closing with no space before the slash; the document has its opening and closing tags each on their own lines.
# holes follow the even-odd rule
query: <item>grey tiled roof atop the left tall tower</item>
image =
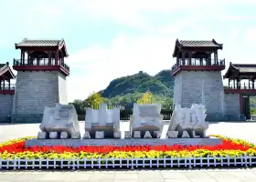
<svg viewBox="0 0 256 182">
<path fill-rule="evenodd" d="M 23 41 L 19 44 L 16 44 L 16 47 L 22 46 L 59 46 L 64 42 L 61 40 L 29 40 L 27 38 L 23 39 Z"/>
</svg>

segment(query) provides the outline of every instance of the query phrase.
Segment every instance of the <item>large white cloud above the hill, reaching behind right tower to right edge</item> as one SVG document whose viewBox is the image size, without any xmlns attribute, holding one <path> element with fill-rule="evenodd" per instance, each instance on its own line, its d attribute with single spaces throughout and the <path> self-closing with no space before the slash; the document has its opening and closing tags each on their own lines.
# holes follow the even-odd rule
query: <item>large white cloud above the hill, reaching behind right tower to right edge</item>
<svg viewBox="0 0 256 182">
<path fill-rule="evenodd" d="M 185 31 L 187 26 L 190 27 L 188 32 Z M 141 70 L 155 75 L 163 69 L 170 69 L 175 64 L 172 54 L 177 37 L 208 40 L 215 38 L 219 43 L 224 44 L 224 49 L 219 51 L 219 58 L 226 59 L 227 68 L 230 61 L 254 63 L 251 59 L 254 53 L 248 52 L 247 48 L 254 47 L 256 40 L 250 39 L 250 35 L 255 29 L 229 27 L 219 34 L 219 31 L 209 30 L 197 24 L 187 26 L 174 27 L 177 31 L 181 31 L 179 34 L 157 34 L 157 32 L 141 36 L 120 34 L 108 47 L 93 45 L 73 54 L 68 59 L 71 68 L 68 81 L 69 101 L 75 98 L 84 99 L 92 91 L 104 89 L 112 79 L 120 76 L 133 75 Z M 244 33 L 248 35 L 244 36 Z M 248 41 L 237 40 L 238 36 L 241 40 Z"/>
</svg>

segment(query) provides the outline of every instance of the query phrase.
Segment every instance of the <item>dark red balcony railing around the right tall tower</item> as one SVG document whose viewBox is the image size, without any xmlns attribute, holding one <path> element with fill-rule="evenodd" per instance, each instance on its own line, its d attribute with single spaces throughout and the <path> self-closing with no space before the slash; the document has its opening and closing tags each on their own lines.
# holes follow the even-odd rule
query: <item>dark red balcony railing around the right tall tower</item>
<svg viewBox="0 0 256 182">
<path fill-rule="evenodd" d="M 178 66 L 225 66 L 225 59 L 218 60 L 206 60 L 206 59 L 195 59 L 192 58 L 189 62 L 189 59 L 184 61 L 180 59 L 177 64 L 172 66 L 172 71 L 174 71 Z"/>
</svg>

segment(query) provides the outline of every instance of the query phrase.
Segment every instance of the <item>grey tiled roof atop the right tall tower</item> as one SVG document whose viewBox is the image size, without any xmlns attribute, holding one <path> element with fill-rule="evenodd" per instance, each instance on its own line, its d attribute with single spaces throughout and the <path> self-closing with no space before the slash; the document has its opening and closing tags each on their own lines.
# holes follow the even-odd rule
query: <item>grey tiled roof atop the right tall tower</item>
<svg viewBox="0 0 256 182">
<path fill-rule="evenodd" d="M 212 40 L 177 40 L 183 47 L 222 47 L 214 39 Z"/>
</svg>

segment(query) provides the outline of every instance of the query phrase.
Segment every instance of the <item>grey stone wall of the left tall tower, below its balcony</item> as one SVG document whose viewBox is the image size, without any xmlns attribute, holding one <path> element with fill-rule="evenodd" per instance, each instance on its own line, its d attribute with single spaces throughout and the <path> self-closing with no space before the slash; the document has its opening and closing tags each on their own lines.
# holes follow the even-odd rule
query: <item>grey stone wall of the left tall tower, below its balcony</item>
<svg viewBox="0 0 256 182">
<path fill-rule="evenodd" d="M 58 71 L 17 72 L 12 122 L 41 122 L 45 106 L 67 101 L 65 82 Z"/>
</svg>

